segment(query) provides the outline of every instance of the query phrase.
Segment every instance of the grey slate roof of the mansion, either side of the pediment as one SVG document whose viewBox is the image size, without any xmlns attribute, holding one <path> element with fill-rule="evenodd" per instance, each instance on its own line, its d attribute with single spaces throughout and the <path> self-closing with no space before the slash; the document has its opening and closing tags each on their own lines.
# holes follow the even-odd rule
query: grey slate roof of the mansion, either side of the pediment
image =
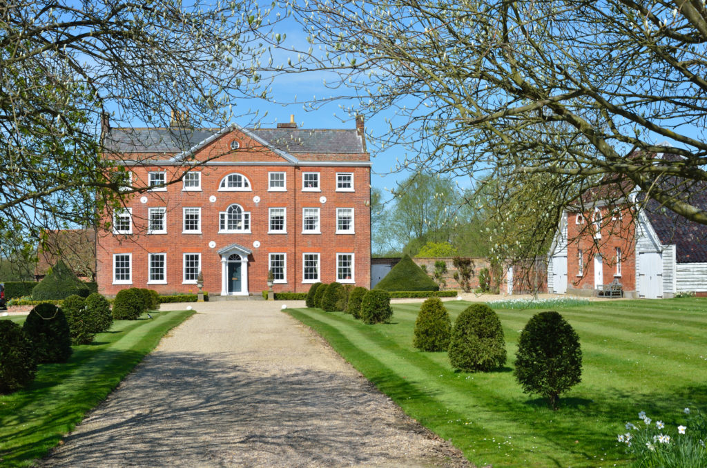
<svg viewBox="0 0 707 468">
<path fill-rule="evenodd" d="M 110 129 L 107 151 L 115 153 L 180 153 L 219 129 Z M 286 153 L 365 153 L 356 129 L 248 129 Z"/>
</svg>

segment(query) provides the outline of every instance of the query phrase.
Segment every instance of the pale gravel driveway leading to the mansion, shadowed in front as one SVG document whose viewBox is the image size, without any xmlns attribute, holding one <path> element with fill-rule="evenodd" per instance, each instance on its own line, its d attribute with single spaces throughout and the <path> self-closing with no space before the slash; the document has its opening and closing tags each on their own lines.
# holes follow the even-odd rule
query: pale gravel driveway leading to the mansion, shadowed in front
<svg viewBox="0 0 707 468">
<path fill-rule="evenodd" d="M 195 305 L 42 466 L 468 466 L 282 304 Z"/>
</svg>

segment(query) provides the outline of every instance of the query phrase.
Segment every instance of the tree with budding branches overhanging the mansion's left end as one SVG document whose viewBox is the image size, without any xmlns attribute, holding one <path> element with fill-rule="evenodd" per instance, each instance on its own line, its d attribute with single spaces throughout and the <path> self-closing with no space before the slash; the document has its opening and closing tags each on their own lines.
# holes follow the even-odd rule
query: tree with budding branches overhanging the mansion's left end
<svg viewBox="0 0 707 468">
<path fill-rule="evenodd" d="M 269 33 L 267 16 L 251 0 L 1 4 L 2 247 L 94 226 L 146 189 L 122 191 L 119 157 L 103 157 L 108 115 L 122 127 L 170 127 L 175 113 L 201 126 L 229 122 L 232 104 L 260 93 L 255 38 Z M 175 133 L 191 146 L 186 131 Z"/>
</svg>

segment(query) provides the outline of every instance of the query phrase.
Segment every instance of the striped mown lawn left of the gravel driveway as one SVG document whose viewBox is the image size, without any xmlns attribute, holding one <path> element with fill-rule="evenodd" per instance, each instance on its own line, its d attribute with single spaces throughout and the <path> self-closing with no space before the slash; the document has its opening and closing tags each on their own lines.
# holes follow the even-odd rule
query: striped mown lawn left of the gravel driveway
<svg viewBox="0 0 707 468">
<path fill-rule="evenodd" d="M 0 466 L 31 466 L 109 394 L 173 327 L 193 310 L 151 311 L 117 320 L 93 344 L 74 346 L 67 363 L 42 364 L 24 390 L 0 395 Z M 23 317 L 3 320 L 23 322 Z"/>
</svg>

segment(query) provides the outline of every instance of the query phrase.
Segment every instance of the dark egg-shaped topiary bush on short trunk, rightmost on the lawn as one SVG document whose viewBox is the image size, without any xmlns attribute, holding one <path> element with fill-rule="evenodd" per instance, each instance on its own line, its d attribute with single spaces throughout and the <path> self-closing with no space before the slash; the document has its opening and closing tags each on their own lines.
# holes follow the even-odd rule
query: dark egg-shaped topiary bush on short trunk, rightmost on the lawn
<svg viewBox="0 0 707 468">
<path fill-rule="evenodd" d="M 523 392 L 547 397 L 552 409 L 562 392 L 582 380 L 579 337 L 557 312 L 540 312 L 527 322 L 515 358 L 515 378 Z"/>
</svg>

